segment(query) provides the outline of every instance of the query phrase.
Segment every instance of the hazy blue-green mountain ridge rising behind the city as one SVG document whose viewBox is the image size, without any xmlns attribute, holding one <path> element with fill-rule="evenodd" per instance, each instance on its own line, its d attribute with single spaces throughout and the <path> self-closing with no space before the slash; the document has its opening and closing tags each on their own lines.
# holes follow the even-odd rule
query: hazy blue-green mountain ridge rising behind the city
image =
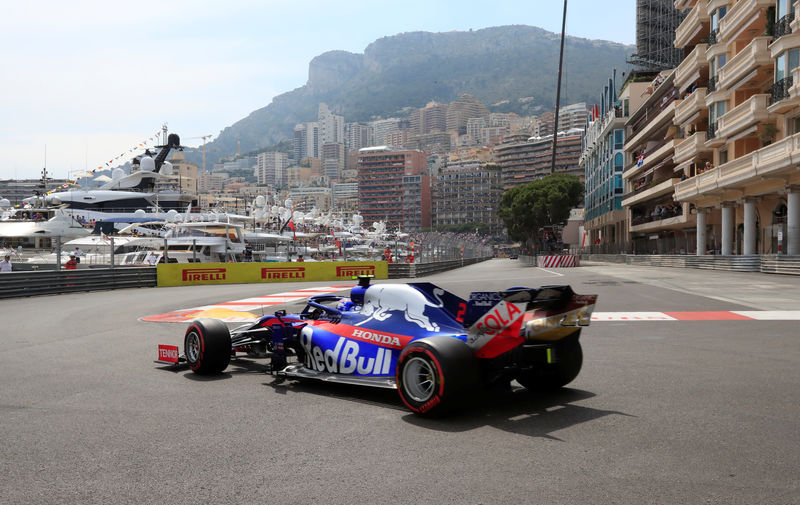
<svg viewBox="0 0 800 505">
<path fill-rule="evenodd" d="M 383 37 L 363 54 L 329 51 L 309 64 L 308 82 L 273 98 L 225 128 L 207 145 L 207 166 L 220 158 L 263 150 L 315 121 L 320 102 L 345 121 L 404 117 L 432 100 L 470 93 L 493 112 L 531 115 L 555 104 L 560 34 L 531 26 L 468 32 L 410 32 Z M 568 36 L 561 105 L 595 103 L 612 68 L 627 70 L 634 46 Z M 524 99 L 524 100 L 520 100 Z M 200 161 L 199 151 L 187 158 Z"/>
</svg>

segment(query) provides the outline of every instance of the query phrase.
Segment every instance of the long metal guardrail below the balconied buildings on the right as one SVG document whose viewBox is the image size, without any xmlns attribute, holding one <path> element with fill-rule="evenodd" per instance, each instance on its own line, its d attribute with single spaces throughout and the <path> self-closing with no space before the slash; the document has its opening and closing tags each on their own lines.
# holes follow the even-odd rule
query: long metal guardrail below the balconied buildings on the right
<svg viewBox="0 0 800 505">
<path fill-rule="evenodd" d="M 653 267 L 698 268 L 737 272 L 800 275 L 800 256 L 763 254 L 753 256 L 691 256 L 691 255 L 634 255 L 583 254 L 584 261 L 625 263 Z"/>
</svg>

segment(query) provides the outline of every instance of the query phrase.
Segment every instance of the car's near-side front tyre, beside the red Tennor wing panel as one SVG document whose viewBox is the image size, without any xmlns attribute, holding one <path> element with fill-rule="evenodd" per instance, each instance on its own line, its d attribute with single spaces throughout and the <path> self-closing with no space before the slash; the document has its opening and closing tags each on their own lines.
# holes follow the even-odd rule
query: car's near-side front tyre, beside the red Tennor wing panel
<svg viewBox="0 0 800 505">
<path fill-rule="evenodd" d="M 199 374 L 220 373 L 231 362 L 231 334 L 217 319 L 197 319 L 183 338 L 186 362 Z"/>
</svg>

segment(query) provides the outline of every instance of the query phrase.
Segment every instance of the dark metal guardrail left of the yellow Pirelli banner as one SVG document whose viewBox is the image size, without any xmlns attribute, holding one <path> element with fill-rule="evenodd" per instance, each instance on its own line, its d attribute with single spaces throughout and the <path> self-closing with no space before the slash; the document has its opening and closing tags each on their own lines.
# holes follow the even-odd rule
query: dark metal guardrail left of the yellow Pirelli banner
<svg viewBox="0 0 800 505">
<path fill-rule="evenodd" d="M 0 274 L 0 298 L 156 286 L 154 267 L 40 270 Z"/>
</svg>

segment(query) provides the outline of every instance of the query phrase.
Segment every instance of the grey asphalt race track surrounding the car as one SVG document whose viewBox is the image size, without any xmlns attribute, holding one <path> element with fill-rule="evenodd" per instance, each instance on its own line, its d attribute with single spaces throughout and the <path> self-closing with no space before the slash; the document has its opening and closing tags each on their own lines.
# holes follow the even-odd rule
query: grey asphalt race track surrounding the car
<svg viewBox="0 0 800 505">
<path fill-rule="evenodd" d="M 778 275 L 493 260 L 427 280 L 569 283 L 603 312 L 800 310 Z M 392 391 L 153 363 L 185 325 L 144 316 L 317 285 L 0 301 L 0 503 L 800 503 L 798 321 L 594 322 L 568 388 L 437 420 Z"/>
</svg>

